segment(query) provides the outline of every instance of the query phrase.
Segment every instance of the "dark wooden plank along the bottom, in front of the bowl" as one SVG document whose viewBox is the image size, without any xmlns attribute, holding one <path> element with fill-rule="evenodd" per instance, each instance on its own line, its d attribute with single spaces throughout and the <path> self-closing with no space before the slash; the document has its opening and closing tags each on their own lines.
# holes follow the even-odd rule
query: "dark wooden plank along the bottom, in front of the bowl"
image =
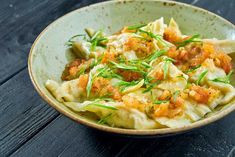
<svg viewBox="0 0 235 157">
<path fill-rule="evenodd" d="M 228 125 L 234 118 L 235 113 L 207 127 L 172 137 L 128 139 L 59 117 L 13 156 L 114 156 L 116 153 L 121 157 L 227 156 L 235 145 L 235 126 Z M 118 153 L 121 148 L 124 150 Z"/>
</svg>

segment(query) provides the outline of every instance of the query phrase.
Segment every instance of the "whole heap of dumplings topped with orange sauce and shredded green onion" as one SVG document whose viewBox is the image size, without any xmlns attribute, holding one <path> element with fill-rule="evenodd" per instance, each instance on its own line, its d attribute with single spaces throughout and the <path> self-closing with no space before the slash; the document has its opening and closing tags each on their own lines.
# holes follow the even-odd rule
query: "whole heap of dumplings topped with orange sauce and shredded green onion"
<svg viewBox="0 0 235 157">
<path fill-rule="evenodd" d="M 226 56 L 235 52 L 233 40 L 187 37 L 173 18 L 168 26 L 160 18 L 111 36 L 101 31 L 89 36 L 70 41 L 78 50 L 78 59 L 66 66 L 72 79 L 45 83 L 74 112 L 95 114 L 98 123 L 112 127 L 179 128 L 234 105 Z M 76 47 L 84 44 L 85 52 Z"/>
</svg>

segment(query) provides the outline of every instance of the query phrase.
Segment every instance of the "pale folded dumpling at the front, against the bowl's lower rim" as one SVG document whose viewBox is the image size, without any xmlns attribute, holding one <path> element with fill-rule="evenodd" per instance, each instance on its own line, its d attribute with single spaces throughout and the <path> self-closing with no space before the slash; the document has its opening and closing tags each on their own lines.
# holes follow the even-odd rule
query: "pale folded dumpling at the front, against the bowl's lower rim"
<svg viewBox="0 0 235 157">
<path fill-rule="evenodd" d="M 128 109 L 122 103 L 102 103 L 103 105 L 112 106 L 118 110 L 111 110 L 102 107 L 89 105 L 92 101 L 84 103 L 66 102 L 65 105 L 77 112 L 89 111 L 95 113 L 98 117 L 104 118 L 108 115 L 106 123 L 114 127 L 132 128 L 132 129 L 153 129 L 162 127 L 159 123 L 149 119 L 144 113 L 136 109 Z"/>
</svg>

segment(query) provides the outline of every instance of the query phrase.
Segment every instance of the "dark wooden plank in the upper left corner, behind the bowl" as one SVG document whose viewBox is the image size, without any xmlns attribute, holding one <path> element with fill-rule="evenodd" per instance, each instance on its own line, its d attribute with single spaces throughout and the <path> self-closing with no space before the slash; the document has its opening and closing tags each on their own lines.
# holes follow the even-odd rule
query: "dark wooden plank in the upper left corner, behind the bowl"
<svg viewBox="0 0 235 157">
<path fill-rule="evenodd" d="M 65 13 L 95 1 L 7 1 L 0 5 L 0 85 L 24 69 L 37 35 Z"/>
</svg>

